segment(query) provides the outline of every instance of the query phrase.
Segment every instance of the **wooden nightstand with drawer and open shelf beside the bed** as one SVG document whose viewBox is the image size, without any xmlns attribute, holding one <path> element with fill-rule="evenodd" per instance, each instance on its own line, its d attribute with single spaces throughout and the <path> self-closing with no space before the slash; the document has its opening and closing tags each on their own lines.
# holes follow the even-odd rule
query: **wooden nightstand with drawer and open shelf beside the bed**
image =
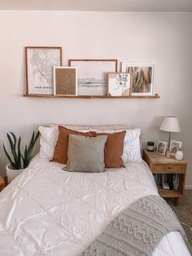
<svg viewBox="0 0 192 256">
<path fill-rule="evenodd" d="M 185 189 L 185 175 L 187 161 L 178 161 L 175 157 L 165 157 L 156 152 L 149 152 L 146 149 L 143 151 L 143 160 L 150 167 L 152 174 L 179 174 L 177 189 L 163 189 L 158 186 L 159 195 L 162 197 L 174 198 L 174 205 L 177 206 L 179 197 L 183 196 Z"/>
</svg>

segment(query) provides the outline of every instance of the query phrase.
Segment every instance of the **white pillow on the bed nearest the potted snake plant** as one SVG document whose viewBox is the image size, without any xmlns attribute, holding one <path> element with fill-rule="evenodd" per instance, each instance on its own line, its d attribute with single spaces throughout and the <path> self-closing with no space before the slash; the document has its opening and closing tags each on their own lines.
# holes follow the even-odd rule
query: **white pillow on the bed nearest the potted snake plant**
<svg viewBox="0 0 192 256">
<path fill-rule="evenodd" d="M 59 136 L 58 127 L 39 126 L 40 157 L 51 159 L 54 157 L 55 145 Z"/>
</svg>

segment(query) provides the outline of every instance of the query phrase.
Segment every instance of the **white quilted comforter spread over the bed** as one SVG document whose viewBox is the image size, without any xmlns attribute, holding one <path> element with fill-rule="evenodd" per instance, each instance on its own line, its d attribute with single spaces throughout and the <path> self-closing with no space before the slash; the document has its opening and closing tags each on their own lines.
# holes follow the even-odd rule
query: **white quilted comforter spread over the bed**
<svg viewBox="0 0 192 256">
<path fill-rule="evenodd" d="M 78 255 L 133 201 L 157 190 L 145 163 L 99 174 L 70 173 L 35 157 L 0 193 L 0 255 Z M 190 255 L 180 233 L 153 256 Z M 112 256 L 112 255 L 111 255 Z"/>
</svg>

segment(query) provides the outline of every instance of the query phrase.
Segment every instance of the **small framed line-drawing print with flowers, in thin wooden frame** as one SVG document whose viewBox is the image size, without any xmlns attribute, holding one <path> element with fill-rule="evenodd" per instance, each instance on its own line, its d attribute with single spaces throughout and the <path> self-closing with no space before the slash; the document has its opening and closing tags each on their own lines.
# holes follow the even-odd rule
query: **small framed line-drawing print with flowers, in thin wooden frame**
<svg viewBox="0 0 192 256">
<path fill-rule="evenodd" d="M 107 95 L 129 96 L 130 74 L 129 73 L 108 73 Z"/>
</svg>

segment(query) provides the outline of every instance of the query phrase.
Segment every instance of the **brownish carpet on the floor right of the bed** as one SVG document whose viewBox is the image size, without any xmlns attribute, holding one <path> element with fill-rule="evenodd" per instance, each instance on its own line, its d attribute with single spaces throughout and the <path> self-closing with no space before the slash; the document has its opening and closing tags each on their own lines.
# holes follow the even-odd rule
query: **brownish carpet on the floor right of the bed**
<svg viewBox="0 0 192 256">
<path fill-rule="evenodd" d="M 184 196 L 179 199 L 177 206 L 173 205 L 171 199 L 166 201 L 168 201 L 168 205 L 170 205 L 175 214 L 177 214 L 182 227 L 185 229 L 190 248 L 192 249 L 192 190 L 185 190 Z M 192 254 L 191 249 L 190 254 Z"/>
</svg>

